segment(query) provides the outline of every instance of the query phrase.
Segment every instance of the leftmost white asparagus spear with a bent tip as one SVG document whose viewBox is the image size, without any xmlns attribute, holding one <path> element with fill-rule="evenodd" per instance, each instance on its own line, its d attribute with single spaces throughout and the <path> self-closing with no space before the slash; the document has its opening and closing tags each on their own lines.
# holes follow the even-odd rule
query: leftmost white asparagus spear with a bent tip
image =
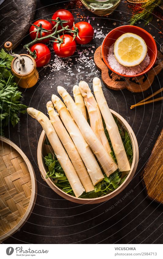
<svg viewBox="0 0 163 259">
<path fill-rule="evenodd" d="M 28 108 L 27 112 L 29 115 L 31 115 L 31 117 L 35 118 L 43 127 L 43 130 L 45 131 L 46 136 L 54 150 L 57 160 L 59 161 L 67 179 L 69 180 L 75 196 L 79 197 L 85 190 L 50 120 L 45 114 L 34 108 Z"/>
</svg>

